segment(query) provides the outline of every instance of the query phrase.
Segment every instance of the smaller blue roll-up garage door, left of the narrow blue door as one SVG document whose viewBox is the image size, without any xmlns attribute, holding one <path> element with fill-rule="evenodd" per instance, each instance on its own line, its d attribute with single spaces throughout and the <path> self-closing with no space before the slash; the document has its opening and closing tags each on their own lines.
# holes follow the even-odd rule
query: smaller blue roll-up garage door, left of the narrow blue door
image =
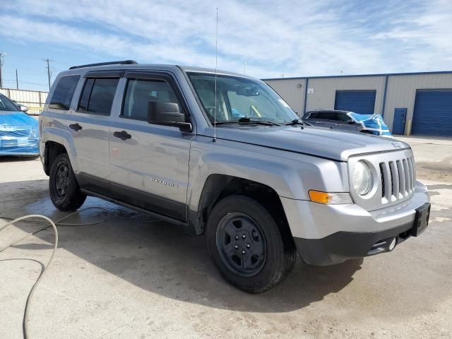
<svg viewBox="0 0 452 339">
<path fill-rule="evenodd" d="M 376 90 L 336 90 L 334 109 L 374 114 Z"/>
</svg>

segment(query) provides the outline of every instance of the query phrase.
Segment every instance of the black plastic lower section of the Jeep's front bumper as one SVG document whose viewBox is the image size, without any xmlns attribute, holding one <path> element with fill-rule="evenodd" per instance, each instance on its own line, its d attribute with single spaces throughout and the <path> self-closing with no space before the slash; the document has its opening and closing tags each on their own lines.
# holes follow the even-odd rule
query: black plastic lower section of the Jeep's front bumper
<svg viewBox="0 0 452 339">
<path fill-rule="evenodd" d="M 336 232 L 322 239 L 294 238 L 298 254 L 309 265 L 333 265 L 385 251 L 393 239 L 400 244 L 413 232 L 414 222 L 381 232 Z"/>
</svg>

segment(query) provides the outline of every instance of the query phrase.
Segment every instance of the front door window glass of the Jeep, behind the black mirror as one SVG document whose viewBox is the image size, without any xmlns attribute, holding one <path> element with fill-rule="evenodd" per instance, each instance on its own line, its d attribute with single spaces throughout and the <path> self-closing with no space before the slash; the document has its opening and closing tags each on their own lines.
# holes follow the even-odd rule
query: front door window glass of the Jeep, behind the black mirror
<svg viewBox="0 0 452 339">
<path fill-rule="evenodd" d="M 127 82 L 121 117 L 148 121 L 149 102 L 172 102 L 179 105 L 174 91 L 166 81 L 131 79 Z"/>
</svg>

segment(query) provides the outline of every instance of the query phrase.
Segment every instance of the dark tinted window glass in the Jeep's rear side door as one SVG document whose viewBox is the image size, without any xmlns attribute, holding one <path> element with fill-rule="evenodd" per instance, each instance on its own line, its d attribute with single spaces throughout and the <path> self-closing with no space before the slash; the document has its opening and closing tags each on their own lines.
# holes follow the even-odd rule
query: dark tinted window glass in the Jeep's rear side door
<svg viewBox="0 0 452 339">
<path fill-rule="evenodd" d="M 78 111 L 90 114 L 109 115 L 112 111 L 114 93 L 119 79 L 88 78 L 83 86 Z"/>
</svg>

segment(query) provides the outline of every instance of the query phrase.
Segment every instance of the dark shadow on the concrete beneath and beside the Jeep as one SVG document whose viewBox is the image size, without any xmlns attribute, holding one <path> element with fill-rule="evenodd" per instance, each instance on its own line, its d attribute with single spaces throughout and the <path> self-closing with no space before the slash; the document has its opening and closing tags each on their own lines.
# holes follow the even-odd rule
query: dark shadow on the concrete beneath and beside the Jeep
<svg viewBox="0 0 452 339">
<path fill-rule="evenodd" d="M 0 218 L 38 213 L 58 220 L 69 214 L 56 210 L 49 201 L 47 180 L 9 182 L 6 189 L 0 196 Z M 83 212 L 93 206 L 107 208 L 108 213 L 95 209 Z M 208 258 L 204 237 L 194 237 L 181 227 L 97 198 L 88 198 L 81 210 L 80 215 L 65 221 L 105 221 L 84 227 L 59 227 L 59 248 L 144 290 L 208 307 L 260 312 L 300 309 L 342 290 L 362 264 L 359 259 L 315 267 L 297 261 L 281 285 L 261 295 L 249 295 L 225 283 Z M 30 223 L 17 226 L 30 230 Z M 50 230 L 36 235 L 52 244 Z M 51 247 L 27 241 L 14 246 L 30 250 Z"/>
</svg>

